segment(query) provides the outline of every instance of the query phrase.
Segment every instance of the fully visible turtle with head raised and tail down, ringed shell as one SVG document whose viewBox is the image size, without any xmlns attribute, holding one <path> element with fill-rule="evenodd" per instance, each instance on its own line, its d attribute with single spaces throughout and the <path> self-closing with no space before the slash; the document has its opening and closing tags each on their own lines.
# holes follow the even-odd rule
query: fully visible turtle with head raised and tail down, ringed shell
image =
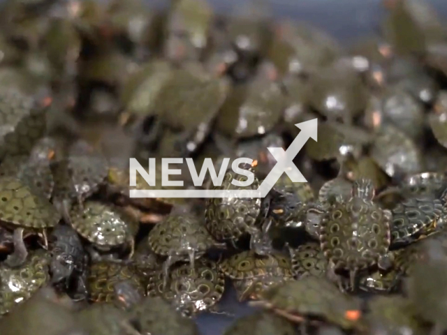
<svg viewBox="0 0 447 335">
<path fill-rule="evenodd" d="M 333 269 L 346 269 L 351 289 L 356 274 L 374 265 L 388 269 L 392 214 L 372 202 L 374 187 L 370 179 L 357 179 L 351 198 L 335 202 L 321 221 L 321 249 Z"/>
</svg>

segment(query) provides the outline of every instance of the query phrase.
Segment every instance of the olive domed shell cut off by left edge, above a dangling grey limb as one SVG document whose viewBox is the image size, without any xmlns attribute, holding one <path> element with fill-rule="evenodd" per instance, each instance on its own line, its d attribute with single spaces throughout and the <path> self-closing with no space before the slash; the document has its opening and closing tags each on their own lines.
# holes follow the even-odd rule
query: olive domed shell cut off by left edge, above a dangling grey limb
<svg viewBox="0 0 447 335">
<path fill-rule="evenodd" d="M 20 179 L 0 177 L 0 220 L 32 229 L 57 225 L 61 216 L 43 197 L 35 195 Z"/>
</svg>

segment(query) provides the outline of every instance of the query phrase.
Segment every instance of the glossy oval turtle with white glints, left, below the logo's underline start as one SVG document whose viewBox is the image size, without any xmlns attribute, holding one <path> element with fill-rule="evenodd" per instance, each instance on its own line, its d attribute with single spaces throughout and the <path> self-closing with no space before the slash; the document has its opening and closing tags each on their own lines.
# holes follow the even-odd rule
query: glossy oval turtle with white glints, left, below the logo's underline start
<svg viewBox="0 0 447 335">
<path fill-rule="evenodd" d="M 76 232 L 87 239 L 97 251 L 130 248 L 129 258 L 131 258 L 138 222 L 127 216 L 119 207 L 88 200 L 82 208 L 73 207 L 70 218 Z"/>
</svg>

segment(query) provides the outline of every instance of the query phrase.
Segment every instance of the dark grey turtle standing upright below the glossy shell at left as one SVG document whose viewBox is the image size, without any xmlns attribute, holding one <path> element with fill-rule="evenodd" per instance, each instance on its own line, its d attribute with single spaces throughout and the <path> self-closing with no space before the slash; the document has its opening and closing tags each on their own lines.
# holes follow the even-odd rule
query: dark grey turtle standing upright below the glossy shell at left
<svg viewBox="0 0 447 335">
<path fill-rule="evenodd" d="M 57 225 L 49 240 L 52 284 L 68 291 L 76 300 L 87 299 L 89 258 L 78 233 L 68 225 Z"/>
</svg>

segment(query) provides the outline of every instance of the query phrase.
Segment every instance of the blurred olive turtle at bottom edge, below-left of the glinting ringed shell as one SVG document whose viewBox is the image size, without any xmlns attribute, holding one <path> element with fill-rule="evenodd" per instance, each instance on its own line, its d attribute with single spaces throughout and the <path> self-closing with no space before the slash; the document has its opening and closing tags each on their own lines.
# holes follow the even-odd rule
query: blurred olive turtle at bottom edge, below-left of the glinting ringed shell
<svg viewBox="0 0 447 335">
<path fill-rule="evenodd" d="M 196 322 L 184 317 L 161 297 L 145 297 L 129 312 L 138 334 L 198 335 Z"/>
</svg>

